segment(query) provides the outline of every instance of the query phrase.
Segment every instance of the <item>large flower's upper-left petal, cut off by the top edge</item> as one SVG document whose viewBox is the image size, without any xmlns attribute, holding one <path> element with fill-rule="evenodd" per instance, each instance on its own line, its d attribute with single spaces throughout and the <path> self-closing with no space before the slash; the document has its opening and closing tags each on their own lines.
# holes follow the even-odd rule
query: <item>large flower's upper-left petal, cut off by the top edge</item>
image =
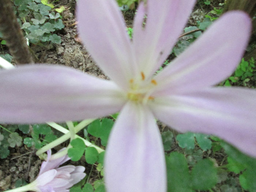
<svg viewBox="0 0 256 192">
<path fill-rule="evenodd" d="M 99 67 L 124 89 L 136 65 L 125 22 L 115 0 L 78 1 L 79 35 Z"/>
</svg>

